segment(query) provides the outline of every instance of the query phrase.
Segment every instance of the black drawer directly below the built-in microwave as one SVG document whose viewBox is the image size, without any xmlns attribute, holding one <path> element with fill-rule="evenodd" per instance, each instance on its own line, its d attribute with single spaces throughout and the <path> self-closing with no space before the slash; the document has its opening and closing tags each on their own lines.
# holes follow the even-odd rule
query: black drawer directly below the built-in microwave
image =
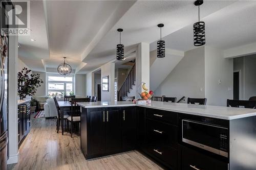
<svg viewBox="0 0 256 170">
<path fill-rule="evenodd" d="M 181 168 L 182 170 L 227 170 L 228 163 L 189 148 L 182 148 Z"/>
</svg>

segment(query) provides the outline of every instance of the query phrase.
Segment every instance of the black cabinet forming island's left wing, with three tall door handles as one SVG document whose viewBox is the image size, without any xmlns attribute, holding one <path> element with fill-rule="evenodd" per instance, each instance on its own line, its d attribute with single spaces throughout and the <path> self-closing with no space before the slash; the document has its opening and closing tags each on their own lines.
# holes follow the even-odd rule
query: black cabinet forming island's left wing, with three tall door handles
<svg viewBox="0 0 256 170">
<path fill-rule="evenodd" d="M 135 111 L 128 107 L 82 108 L 81 149 L 86 158 L 134 149 Z"/>
</svg>

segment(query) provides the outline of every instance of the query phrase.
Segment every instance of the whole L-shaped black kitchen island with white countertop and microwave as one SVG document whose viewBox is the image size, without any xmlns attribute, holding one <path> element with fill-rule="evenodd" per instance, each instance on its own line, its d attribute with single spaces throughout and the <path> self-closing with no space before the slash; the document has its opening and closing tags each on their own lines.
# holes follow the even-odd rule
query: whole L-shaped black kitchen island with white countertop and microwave
<svg viewBox="0 0 256 170">
<path fill-rule="evenodd" d="M 182 103 L 79 103 L 86 159 L 139 150 L 170 169 L 255 169 L 256 110 Z"/>
</svg>

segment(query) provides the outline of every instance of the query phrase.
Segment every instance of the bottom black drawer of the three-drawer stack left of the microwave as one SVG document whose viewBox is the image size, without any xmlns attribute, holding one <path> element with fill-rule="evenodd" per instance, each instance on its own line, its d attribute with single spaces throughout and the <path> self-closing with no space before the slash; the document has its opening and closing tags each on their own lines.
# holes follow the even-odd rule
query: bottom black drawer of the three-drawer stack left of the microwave
<svg viewBox="0 0 256 170">
<path fill-rule="evenodd" d="M 177 169 L 177 150 L 170 147 L 152 147 L 148 146 L 146 152 L 162 161 L 164 164 L 169 166 L 171 169 Z"/>
</svg>

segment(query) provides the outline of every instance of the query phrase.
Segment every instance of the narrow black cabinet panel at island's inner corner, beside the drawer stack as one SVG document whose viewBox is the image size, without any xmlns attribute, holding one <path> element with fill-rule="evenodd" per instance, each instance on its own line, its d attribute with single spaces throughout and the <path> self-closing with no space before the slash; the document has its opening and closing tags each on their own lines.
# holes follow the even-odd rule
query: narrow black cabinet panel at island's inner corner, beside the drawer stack
<svg viewBox="0 0 256 170">
<path fill-rule="evenodd" d="M 142 149 L 145 144 L 145 108 L 137 107 L 137 145 L 138 148 Z"/>
</svg>

